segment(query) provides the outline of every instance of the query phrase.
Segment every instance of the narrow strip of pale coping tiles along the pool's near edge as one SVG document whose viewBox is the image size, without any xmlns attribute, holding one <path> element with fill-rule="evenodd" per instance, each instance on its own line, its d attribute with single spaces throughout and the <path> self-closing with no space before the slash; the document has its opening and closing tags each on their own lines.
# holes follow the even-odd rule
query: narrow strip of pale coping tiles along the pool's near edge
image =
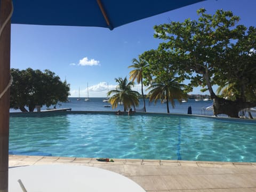
<svg viewBox="0 0 256 192">
<path fill-rule="evenodd" d="M 241 167 L 252 166 L 256 168 L 256 162 L 212 162 L 212 161 L 183 161 L 183 160 L 162 160 L 162 159 L 118 159 L 114 162 L 99 162 L 97 158 L 86 157 L 58 157 L 58 156 L 29 156 L 9 155 L 11 166 L 24 166 L 36 164 L 83 164 L 83 165 L 158 165 L 158 166 L 193 166 L 193 167 Z M 16 163 L 14 163 L 16 162 Z M 10 165 L 9 165 L 10 166 Z"/>
</svg>

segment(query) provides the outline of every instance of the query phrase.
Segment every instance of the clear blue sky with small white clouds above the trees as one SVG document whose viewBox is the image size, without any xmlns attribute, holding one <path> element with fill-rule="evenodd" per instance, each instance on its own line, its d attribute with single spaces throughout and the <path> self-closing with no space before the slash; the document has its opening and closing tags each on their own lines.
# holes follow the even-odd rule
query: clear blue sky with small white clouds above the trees
<svg viewBox="0 0 256 192">
<path fill-rule="evenodd" d="M 153 37 L 154 25 L 197 19 L 204 7 L 213 14 L 218 9 L 238 15 L 239 24 L 255 26 L 255 0 L 207 0 L 177 10 L 135 21 L 110 31 L 99 27 L 12 25 L 11 68 L 50 69 L 70 84 L 70 97 L 106 97 L 115 89 L 115 78 L 129 78 L 132 59 L 156 49 L 161 42 Z M 140 90 L 140 85 L 134 87 Z M 193 94 L 199 93 L 199 87 Z M 205 92 L 207 94 L 208 92 Z"/>
</svg>

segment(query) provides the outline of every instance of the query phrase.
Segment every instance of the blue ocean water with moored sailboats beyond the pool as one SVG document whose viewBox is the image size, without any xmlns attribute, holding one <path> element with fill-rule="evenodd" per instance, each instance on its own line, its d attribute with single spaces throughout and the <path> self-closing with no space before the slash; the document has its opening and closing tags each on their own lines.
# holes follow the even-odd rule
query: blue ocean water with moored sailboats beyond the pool
<svg viewBox="0 0 256 192">
<path fill-rule="evenodd" d="M 105 107 L 110 105 L 109 103 L 103 102 L 105 98 L 90 98 L 90 101 L 84 101 L 85 98 L 77 101 L 77 98 L 69 98 L 70 102 L 59 102 L 56 105 L 56 108 L 71 108 L 72 111 L 117 111 L 124 110 L 123 105 L 119 105 L 117 108 L 112 109 L 112 107 Z M 212 105 L 212 101 L 195 101 L 194 99 L 189 99 L 188 102 L 179 103 L 175 101 L 175 107 L 172 108 L 171 103 L 169 102 L 170 113 L 174 114 L 187 114 L 188 107 L 191 106 L 192 114 L 194 115 L 207 115 L 212 116 L 212 110 L 204 110 L 204 107 L 209 107 Z M 49 107 L 53 108 L 53 106 Z M 141 111 L 143 108 L 143 99 L 140 99 L 140 105 L 136 107 L 137 111 Z M 46 110 L 46 106 L 43 106 L 41 110 Z M 156 105 L 154 102 L 149 102 L 149 99 L 146 99 L 146 110 L 147 112 L 153 113 L 167 113 L 166 103 L 161 103 L 157 101 Z M 36 111 L 36 109 L 35 109 Z M 10 109 L 10 112 L 20 112 L 20 110 Z"/>
</svg>

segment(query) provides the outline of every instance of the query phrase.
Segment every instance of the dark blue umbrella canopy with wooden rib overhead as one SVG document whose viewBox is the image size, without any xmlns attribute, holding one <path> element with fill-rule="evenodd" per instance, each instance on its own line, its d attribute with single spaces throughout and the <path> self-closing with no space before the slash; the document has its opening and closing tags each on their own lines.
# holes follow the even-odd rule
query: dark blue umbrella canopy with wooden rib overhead
<svg viewBox="0 0 256 192">
<path fill-rule="evenodd" d="M 110 30 L 204 0 L 13 0 L 12 23 L 94 26 Z"/>
</svg>

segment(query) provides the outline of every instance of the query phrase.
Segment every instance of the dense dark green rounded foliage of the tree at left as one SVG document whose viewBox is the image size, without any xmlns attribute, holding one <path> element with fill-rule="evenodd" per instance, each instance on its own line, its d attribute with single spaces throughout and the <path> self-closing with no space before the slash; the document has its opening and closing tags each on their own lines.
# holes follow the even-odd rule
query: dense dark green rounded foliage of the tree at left
<svg viewBox="0 0 256 192">
<path fill-rule="evenodd" d="M 61 82 L 59 76 L 50 70 L 11 69 L 13 83 L 11 86 L 10 108 L 34 111 L 35 106 L 47 107 L 66 101 L 69 84 Z"/>
</svg>

